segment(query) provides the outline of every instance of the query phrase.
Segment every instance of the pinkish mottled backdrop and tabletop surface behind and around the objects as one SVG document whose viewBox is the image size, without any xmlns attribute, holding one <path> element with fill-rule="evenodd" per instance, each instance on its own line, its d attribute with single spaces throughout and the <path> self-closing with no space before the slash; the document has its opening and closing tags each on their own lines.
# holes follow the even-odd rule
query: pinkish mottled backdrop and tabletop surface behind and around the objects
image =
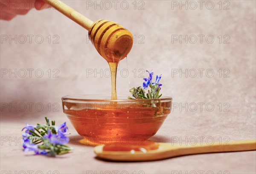
<svg viewBox="0 0 256 174">
<path fill-rule="evenodd" d="M 256 3 L 254 0 L 227 1 L 229 10 L 219 9 L 218 1 L 212 1 L 212 10 L 172 9 L 174 1 L 145 0 L 144 10 L 134 10 L 133 1 L 127 1 L 129 8 L 117 9 L 113 3 L 110 10 L 88 7 L 85 0 L 65 3 L 81 12 L 91 20 L 108 19 L 120 23 L 136 35 L 136 43 L 128 55 L 128 70 L 131 86 L 138 86 L 143 79 L 139 77 L 140 69 L 153 69 L 155 74 L 162 74 L 162 93 L 173 97 L 173 102 L 179 106 L 187 103 L 204 103 L 195 112 L 188 108 L 174 108 L 165 123 L 151 139 L 159 142 L 172 142 L 174 137 L 181 139 L 191 137 L 212 137 L 217 141 L 228 137 L 230 140 L 246 140 L 256 138 Z M 91 1 L 94 3 L 94 1 Z M 112 2 L 112 1 L 111 1 Z M 180 1 L 177 1 L 180 3 Z M 197 1 L 195 1 L 197 2 Z M 99 1 L 98 1 L 99 3 Z M 183 1 L 185 3 L 185 1 Z M 227 5 L 221 2 L 222 7 Z M 81 137 L 71 126 L 67 117 L 61 111 L 61 97 L 72 94 L 110 94 L 110 78 L 99 74 L 87 74 L 89 69 L 106 72 L 107 62 L 99 56 L 90 41 L 87 31 L 64 17 L 58 11 L 33 9 L 26 16 L 18 16 L 10 22 L 0 21 L 1 37 L 11 35 L 34 35 L 32 43 L 27 40 L 21 44 L 9 43 L 1 39 L 0 67 L 1 69 L 42 69 L 44 76 L 38 78 L 27 74 L 21 78 L 13 75 L 11 78 L 1 74 L 1 122 L 0 122 L 0 168 L 1 172 L 11 171 L 58 171 L 59 173 L 104 173 L 105 171 L 144 171 L 147 174 L 172 173 L 179 171 L 189 173 L 196 171 L 229 171 L 232 174 L 256 173 L 256 152 L 234 152 L 218 154 L 201 154 L 177 157 L 167 160 L 143 163 L 113 163 L 98 160 L 93 154 L 93 147 L 78 143 Z M 44 42 L 35 42 L 35 36 L 41 35 Z M 58 35 L 58 44 L 50 44 L 47 36 Z M 172 43 L 172 35 L 212 35 L 214 42 L 208 44 L 205 37 L 202 43 L 181 44 Z M 217 38 L 222 36 L 222 43 Z M 224 35 L 230 36 L 230 44 L 223 44 Z M 26 37 L 29 38 L 28 36 Z M 142 38 L 144 43 L 138 43 Z M 199 37 L 198 37 L 199 38 Z M 21 42 L 23 39 L 21 40 Z M 126 68 L 122 61 L 121 69 Z M 58 69 L 58 78 L 49 78 L 47 70 Z M 187 78 L 183 74 L 173 74 L 173 70 L 183 72 L 188 69 L 204 69 L 203 76 Z M 214 76 L 205 75 L 212 69 Z M 217 72 L 222 69 L 222 77 Z M 223 78 L 223 70 L 230 71 L 228 78 Z M 134 78 L 134 70 L 137 72 Z M 33 71 L 35 72 L 35 71 Z M 199 72 L 199 71 L 198 71 Z M 51 76 L 53 75 L 53 72 Z M 146 73 L 143 74 L 147 76 Z M 118 74 L 117 91 L 128 94 L 127 77 Z M 20 103 L 42 103 L 44 110 L 38 112 L 35 108 L 21 112 L 2 108 L 2 104 L 18 105 Z M 48 111 L 47 104 L 58 103 L 59 112 Z M 207 111 L 205 105 L 212 103 L 214 110 Z M 218 104 L 221 103 L 221 111 Z M 227 105 L 224 105 L 227 103 Z M 230 106 L 228 112 L 223 109 Z M 57 106 L 57 105 L 55 105 Z M 177 106 L 177 105 L 175 105 Z M 199 105 L 198 105 L 199 107 Z M 180 110 L 181 109 L 181 110 Z M 15 142 L 15 137 L 21 136 L 20 130 L 25 123 L 43 123 L 44 116 L 55 119 L 57 123 L 67 121 L 70 126 L 70 146 L 72 153 L 51 158 L 24 154 L 21 144 Z M 7 142 L 6 142 L 7 138 Z M 14 140 L 14 141 L 10 141 Z"/>
</svg>

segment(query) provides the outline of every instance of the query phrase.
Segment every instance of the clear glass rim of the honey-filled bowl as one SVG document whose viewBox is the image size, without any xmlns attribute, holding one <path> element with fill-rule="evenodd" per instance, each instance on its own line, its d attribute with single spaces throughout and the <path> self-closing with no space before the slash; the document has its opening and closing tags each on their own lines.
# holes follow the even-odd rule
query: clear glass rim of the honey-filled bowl
<svg viewBox="0 0 256 174">
<path fill-rule="evenodd" d="M 88 94 L 88 95 L 65 95 L 63 97 L 61 97 L 61 100 L 62 101 L 67 101 L 67 100 L 71 100 L 71 101 L 84 101 L 84 102 L 87 102 L 87 101 L 94 101 L 94 102 L 98 102 L 98 101 L 118 101 L 118 102 L 142 102 L 142 101 L 172 101 L 172 97 L 169 97 L 169 96 L 161 96 L 160 98 L 147 98 L 147 99 L 136 99 L 136 100 L 132 100 L 132 99 L 117 99 L 117 100 L 111 100 L 111 99 L 90 99 L 90 96 L 92 97 L 100 97 L 100 96 L 108 96 L 108 98 L 111 98 L 111 95 L 102 95 L 102 94 Z M 121 96 L 126 96 L 128 97 L 128 95 L 117 95 L 117 97 L 121 97 Z M 78 98 L 80 97 L 80 98 Z"/>
</svg>

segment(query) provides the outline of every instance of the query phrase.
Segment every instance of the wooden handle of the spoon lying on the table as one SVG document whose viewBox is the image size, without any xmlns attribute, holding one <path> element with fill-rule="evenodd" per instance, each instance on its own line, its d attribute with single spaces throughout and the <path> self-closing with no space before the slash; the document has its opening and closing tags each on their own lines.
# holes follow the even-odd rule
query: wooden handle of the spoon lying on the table
<svg viewBox="0 0 256 174">
<path fill-rule="evenodd" d="M 171 156 L 180 156 L 188 154 L 204 154 L 215 152 L 239 152 L 256 150 L 256 140 L 238 140 L 230 141 L 228 143 L 213 143 L 213 144 L 196 144 L 195 146 L 180 146 L 173 148 L 169 144 L 169 152 L 172 152 Z"/>
</svg>

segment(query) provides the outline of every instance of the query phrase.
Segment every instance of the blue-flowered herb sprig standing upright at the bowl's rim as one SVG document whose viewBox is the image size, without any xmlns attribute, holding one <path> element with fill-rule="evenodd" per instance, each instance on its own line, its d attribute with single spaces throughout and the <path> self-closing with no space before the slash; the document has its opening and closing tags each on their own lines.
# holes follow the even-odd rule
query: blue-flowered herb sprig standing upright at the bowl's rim
<svg viewBox="0 0 256 174">
<path fill-rule="evenodd" d="M 130 93 L 132 94 L 132 97 L 128 97 L 128 99 L 153 99 L 153 98 L 160 98 L 162 96 L 162 94 L 159 94 L 161 88 L 160 86 L 162 86 L 162 84 L 159 83 L 160 79 L 161 79 L 161 75 L 156 77 L 156 81 L 152 82 L 152 76 L 153 76 L 153 72 L 151 70 L 151 72 L 149 72 L 148 70 L 146 70 L 149 74 L 148 79 L 144 78 L 143 80 L 145 82 L 143 82 L 142 87 L 133 87 L 130 90 Z M 145 92 L 145 90 L 150 87 L 151 89 L 148 90 L 148 93 Z"/>
</svg>

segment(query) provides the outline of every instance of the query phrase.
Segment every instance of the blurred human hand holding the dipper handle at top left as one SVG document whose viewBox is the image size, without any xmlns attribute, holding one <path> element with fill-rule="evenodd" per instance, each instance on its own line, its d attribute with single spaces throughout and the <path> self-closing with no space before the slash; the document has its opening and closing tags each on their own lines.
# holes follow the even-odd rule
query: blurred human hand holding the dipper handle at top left
<svg viewBox="0 0 256 174">
<path fill-rule="evenodd" d="M 27 14 L 32 8 L 41 10 L 49 7 L 43 0 L 0 0 L 0 5 L 1 20 L 12 20 L 18 14 Z"/>
</svg>

